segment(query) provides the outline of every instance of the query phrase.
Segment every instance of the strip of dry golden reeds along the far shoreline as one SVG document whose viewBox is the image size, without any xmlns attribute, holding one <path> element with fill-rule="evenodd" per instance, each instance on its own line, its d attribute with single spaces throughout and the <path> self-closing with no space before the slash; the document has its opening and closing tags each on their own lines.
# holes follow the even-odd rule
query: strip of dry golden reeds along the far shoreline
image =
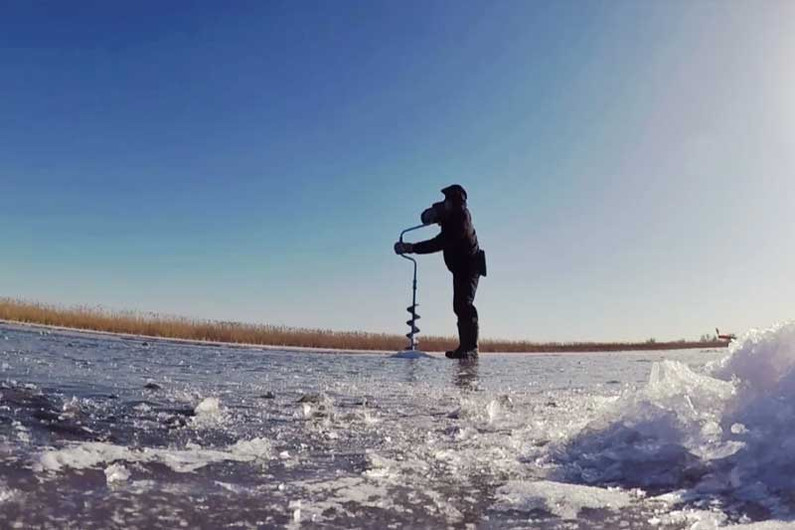
<svg viewBox="0 0 795 530">
<path fill-rule="evenodd" d="M 114 311 L 104 308 L 42 304 L 14 298 L 0 298 L 0 320 L 99 331 L 125 335 L 141 335 L 164 339 L 199 342 L 220 342 L 258 346 L 320 348 L 333 350 L 400 351 L 408 339 L 402 335 L 360 331 L 293 328 L 268 324 L 250 324 L 214 320 L 197 320 L 179 316 Z M 419 336 L 423 351 L 440 352 L 456 346 L 454 337 Z M 485 339 L 481 352 L 500 353 L 576 353 L 632 350 L 671 350 L 686 348 L 720 348 L 724 340 L 645 342 L 546 342 Z"/>
</svg>

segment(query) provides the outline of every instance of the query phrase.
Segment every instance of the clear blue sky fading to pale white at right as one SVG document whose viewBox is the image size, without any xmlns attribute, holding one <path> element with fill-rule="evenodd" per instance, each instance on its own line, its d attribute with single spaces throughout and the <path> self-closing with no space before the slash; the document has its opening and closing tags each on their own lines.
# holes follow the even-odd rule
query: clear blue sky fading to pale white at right
<svg viewBox="0 0 795 530">
<path fill-rule="evenodd" d="M 457 182 L 485 337 L 795 314 L 789 0 L 12 0 L 0 65 L 0 295 L 405 333 Z"/>
</svg>

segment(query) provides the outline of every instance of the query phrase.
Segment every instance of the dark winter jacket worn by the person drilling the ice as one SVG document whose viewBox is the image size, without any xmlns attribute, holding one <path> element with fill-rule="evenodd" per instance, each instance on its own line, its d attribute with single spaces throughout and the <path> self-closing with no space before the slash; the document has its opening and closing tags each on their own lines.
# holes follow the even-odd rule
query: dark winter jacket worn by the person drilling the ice
<svg viewBox="0 0 795 530">
<path fill-rule="evenodd" d="M 444 263 L 452 273 L 485 275 L 485 262 L 478 246 L 478 236 L 466 203 L 458 204 L 441 222 L 442 231 L 427 241 L 414 243 L 414 252 L 430 254 L 444 252 Z"/>
</svg>

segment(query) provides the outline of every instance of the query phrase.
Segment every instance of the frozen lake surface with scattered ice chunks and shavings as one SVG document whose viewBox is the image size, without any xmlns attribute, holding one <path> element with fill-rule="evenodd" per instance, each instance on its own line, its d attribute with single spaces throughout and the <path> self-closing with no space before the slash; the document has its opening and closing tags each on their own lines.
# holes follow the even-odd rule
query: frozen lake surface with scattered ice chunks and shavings
<svg viewBox="0 0 795 530">
<path fill-rule="evenodd" d="M 794 365 L 792 324 L 477 363 L 0 325 L 0 527 L 779 528 Z"/>
</svg>

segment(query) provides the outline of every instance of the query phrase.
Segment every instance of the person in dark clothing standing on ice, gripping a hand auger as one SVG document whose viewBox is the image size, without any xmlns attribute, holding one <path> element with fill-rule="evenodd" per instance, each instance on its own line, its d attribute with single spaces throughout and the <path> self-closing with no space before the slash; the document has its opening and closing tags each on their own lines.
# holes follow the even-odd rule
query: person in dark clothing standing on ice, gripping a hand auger
<svg viewBox="0 0 795 530">
<path fill-rule="evenodd" d="M 478 310 L 475 292 L 480 276 L 486 275 L 485 254 L 467 209 L 467 192 L 458 184 L 442 190 L 444 201 L 422 212 L 422 224 L 437 223 L 442 231 L 427 241 L 395 243 L 397 254 L 444 254 L 444 263 L 453 273 L 453 311 L 458 317 L 458 347 L 445 352 L 450 359 L 473 359 L 478 355 Z"/>
</svg>

